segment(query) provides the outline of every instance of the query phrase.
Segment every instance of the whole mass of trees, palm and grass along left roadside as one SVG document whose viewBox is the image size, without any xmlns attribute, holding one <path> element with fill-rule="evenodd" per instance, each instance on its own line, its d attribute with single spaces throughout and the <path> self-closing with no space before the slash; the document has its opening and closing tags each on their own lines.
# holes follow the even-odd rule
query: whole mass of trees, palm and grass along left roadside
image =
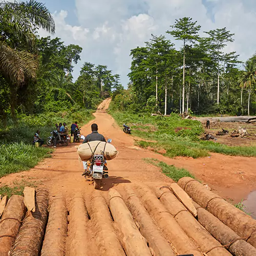
<svg viewBox="0 0 256 256">
<path fill-rule="evenodd" d="M 82 48 L 54 37 L 46 5 L 0 1 L 0 177 L 34 167 L 51 148 L 32 146 L 40 130 L 46 141 L 55 123 L 79 125 L 111 91 L 123 89 L 107 66 L 84 62 L 74 81 Z M 38 29 L 51 34 L 39 37 Z"/>
</svg>

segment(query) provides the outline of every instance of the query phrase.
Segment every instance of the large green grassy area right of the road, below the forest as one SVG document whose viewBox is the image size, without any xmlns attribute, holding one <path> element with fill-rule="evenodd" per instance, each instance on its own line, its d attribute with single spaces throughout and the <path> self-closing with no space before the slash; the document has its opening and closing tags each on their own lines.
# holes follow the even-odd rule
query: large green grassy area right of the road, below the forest
<svg viewBox="0 0 256 256">
<path fill-rule="evenodd" d="M 228 146 L 214 141 L 201 141 L 203 126 L 199 121 L 182 119 L 173 114 L 170 117 L 132 114 L 111 111 L 119 125 L 127 123 L 132 134 L 148 141 L 138 141 L 143 148 L 164 149 L 167 157 L 207 157 L 209 153 L 230 156 L 256 157 L 256 146 Z M 133 123 L 135 125 L 133 125 Z"/>
</svg>

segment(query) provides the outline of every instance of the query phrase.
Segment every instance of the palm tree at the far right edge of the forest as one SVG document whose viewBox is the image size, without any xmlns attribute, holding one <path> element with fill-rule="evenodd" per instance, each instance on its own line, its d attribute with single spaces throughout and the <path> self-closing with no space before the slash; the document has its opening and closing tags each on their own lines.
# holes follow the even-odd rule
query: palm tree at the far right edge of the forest
<svg viewBox="0 0 256 256">
<path fill-rule="evenodd" d="M 244 71 L 241 73 L 240 77 L 240 86 L 243 88 L 248 89 L 248 116 L 250 115 L 250 95 L 251 95 L 251 88 L 256 83 L 256 63 L 251 59 L 247 60 L 244 65 Z M 242 98 L 242 95 L 241 95 Z"/>
</svg>

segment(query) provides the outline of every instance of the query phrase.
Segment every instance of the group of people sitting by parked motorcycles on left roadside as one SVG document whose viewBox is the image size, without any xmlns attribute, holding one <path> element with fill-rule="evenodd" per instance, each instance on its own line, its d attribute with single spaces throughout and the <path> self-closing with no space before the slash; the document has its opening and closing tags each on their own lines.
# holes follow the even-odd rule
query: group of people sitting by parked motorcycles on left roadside
<svg viewBox="0 0 256 256">
<path fill-rule="evenodd" d="M 78 125 L 77 122 L 72 123 L 71 125 L 71 136 L 76 136 L 76 128 L 78 129 Z M 57 135 L 56 138 L 54 138 L 53 141 L 53 147 L 56 147 L 57 145 L 57 141 L 62 141 L 62 136 L 67 136 L 69 134 L 69 129 L 68 126 L 66 124 L 66 122 L 62 123 L 55 123 L 55 129 L 57 131 Z M 39 146 L 42 146 L 42 144 L 44 144 L 44 140 L 40 138 L 40 131 L 37 130 L 36 133 L 34 134 L 34 143 L 38 142 Z"/>
</svg>

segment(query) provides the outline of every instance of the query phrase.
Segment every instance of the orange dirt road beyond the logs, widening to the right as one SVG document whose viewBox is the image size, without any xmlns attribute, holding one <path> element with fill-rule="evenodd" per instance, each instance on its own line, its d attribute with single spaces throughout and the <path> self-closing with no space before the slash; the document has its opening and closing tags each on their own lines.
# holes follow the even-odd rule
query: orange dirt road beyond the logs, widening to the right
<svg viewBox="0 0 256 256">
<path fill-rule="evenodd" d="M 119 151 L 118 157 L 108 163 L 110 178 L 105 180 L 103 191 L 108 191 L 120 183 L 138 181 L 162 184 L 170 181 L 157 167 L 145 163 L 144 158 L 156 158 L 177 167 L 184 167 L 197 179 L 216 189 L 217 194 L 234 202 L 239 202 L 251 191 L 256 190 L 255 158 L 211 154 L 210 158 L 169 159 L 143 150 L 134 146 L 134 137 L 124 134 L 114 119 L 106 113 L 109 103 L 110 99 L 103 101 L 94 114 L 95 119 L 81 129 L 81 134 L 87 135 L 91 132 L 91 123 L 96 122 L 99 132 L 106 138 L 111 138 L 112 144 Z M 50 188 L 52 194 L 63 191 L 67 196 L 71 196 L 70 194 L 79 189 L 87 193 L 93 191 L 93 186 L 84 180 L 81 173 L 82 163 L 78 160 L 75 144 L 70 144 L 68 147 L 58 147 L 52 158 L 41 162 L 29 172 L 9 175 L 0 179 L 0 182 L 10 184 L 19 179 L 36 180 Z"/>
</svg>

